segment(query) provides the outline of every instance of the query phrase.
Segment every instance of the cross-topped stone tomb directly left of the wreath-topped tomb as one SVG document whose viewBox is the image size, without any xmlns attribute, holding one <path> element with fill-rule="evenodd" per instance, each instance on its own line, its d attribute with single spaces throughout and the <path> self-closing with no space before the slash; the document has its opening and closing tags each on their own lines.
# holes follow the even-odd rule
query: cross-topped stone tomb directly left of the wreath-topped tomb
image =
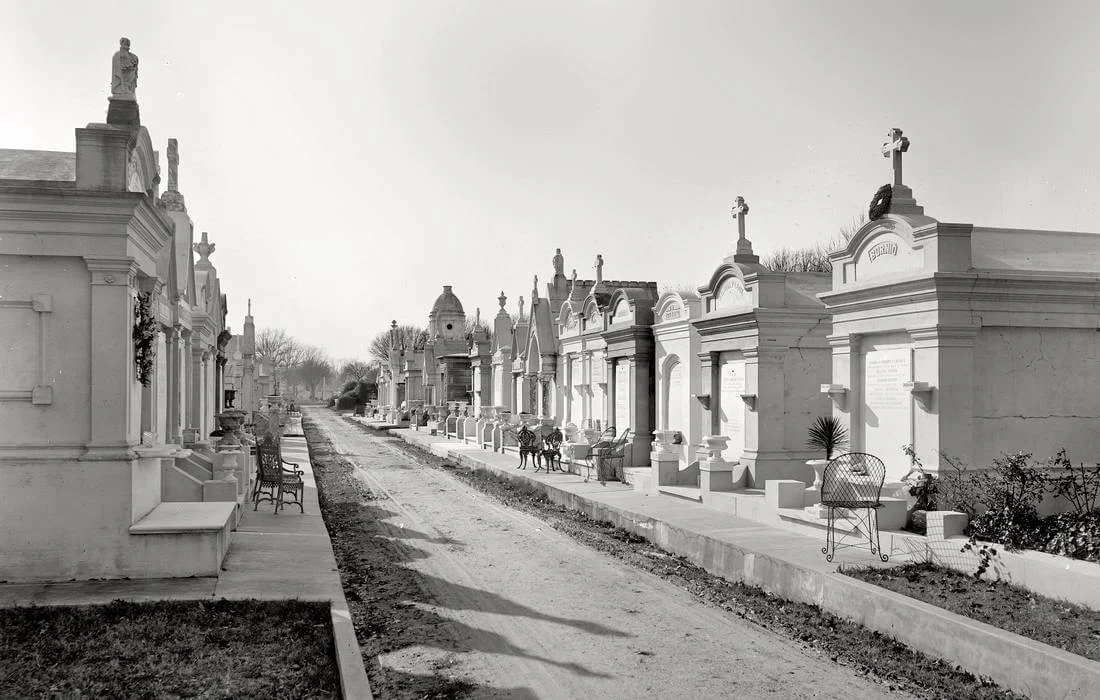
<svg viewBox="0 0 1100 700">
<path fill-rule="evenodd" d="M 703 315 L 693 321 L 700 335 L 702 430 L 704 437 L 728 438 L 724 464 L 716 468 L 733 472 L 734 488 L 762 489 L 769 479 L 809 482 L 805 462 L 820 456 L 806 449 L 806 433 L 832 409 L 820 393 L 829 378 L 829 321 L 816 296 L 828 289 L 829 276 L 761 267 L 745 238 L 748 207 L 740 197 L 734 211 L 738 252 L 700 289 Z"/>
</svg>

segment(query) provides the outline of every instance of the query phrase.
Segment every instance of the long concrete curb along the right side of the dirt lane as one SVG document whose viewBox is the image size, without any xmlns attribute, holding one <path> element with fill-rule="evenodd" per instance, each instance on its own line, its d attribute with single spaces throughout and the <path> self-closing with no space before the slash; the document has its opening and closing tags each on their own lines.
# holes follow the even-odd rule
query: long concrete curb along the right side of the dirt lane
<svg viewBox="0 0 1100 700">
<path fill-rule="evenodd" d="M 404 430 L 389 433 L 472 470 L 534 486 L 552 503 L 645 537 L 663 549 L 686 557 L 711 573 L 760 587 L 789 600 L 817 605 L 1031 698 L 1085 698 L 1100 688 L 1100 663 L 843 573 L 815 570 L 781 555 L 672 525 L 644 513 L 572 493 L 526 473 L 501 469 L 479 459 L 485 452 L 471 450 L 469 446 L 464 449 L 457 441 L 448 444 L 440 437 L 409 435 Z M 698 507 L 700 513 L 706 512 L 703 506 Z M 733 525 L 732 522 L 728 525 L 722 522 L 722 513 L 711 512 L 715 515 L 714 529 L 719 534 L 723 534 L 724 527 Z M 774 533 L 779 537 L 787 534 L 782 531 Z"/>
</svg>

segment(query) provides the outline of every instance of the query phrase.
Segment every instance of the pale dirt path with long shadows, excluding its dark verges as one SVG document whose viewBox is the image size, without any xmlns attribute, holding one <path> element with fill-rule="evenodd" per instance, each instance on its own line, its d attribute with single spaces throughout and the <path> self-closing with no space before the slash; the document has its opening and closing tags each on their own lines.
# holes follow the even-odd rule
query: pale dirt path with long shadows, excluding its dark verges
<svg viewBox="0 0 1100 700">
<path fill-rule="evenodd" d="M 502 506 L 391 439 L 328 411 L 309 415 L 370 492 L 340 506 L 374 533 L 356 556 L 404 562 L 396 578 L 350 581 L 363 589 L 349 595 L 353 610 L 361 597 L 397 597 L 393 622 L 416 633 L 377 650 L 381 698 L 899 697 Z M 381 634 L 386 622 L 372 624 Z M 453 685 L 417 683 L 440 676 Z"/>
</svg>

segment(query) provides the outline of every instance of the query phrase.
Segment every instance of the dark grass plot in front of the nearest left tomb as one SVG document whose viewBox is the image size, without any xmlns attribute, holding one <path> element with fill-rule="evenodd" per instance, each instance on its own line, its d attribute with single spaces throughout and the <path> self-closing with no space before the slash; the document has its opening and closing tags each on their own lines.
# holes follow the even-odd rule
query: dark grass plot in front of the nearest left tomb
<svg viewBox="0 0 1100 700">
<path fill-rule="evenodd" d="M 0 610 L 12 698 L 339 698 L 328 603 L 202 600 Z"/>
</svg>

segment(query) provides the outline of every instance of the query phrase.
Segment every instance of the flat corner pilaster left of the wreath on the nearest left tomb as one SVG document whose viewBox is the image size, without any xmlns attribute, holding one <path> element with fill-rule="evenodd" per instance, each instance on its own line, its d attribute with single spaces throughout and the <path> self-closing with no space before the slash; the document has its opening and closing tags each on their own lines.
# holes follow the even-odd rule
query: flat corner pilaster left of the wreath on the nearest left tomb
<svg viewBox="0 0 1100 700">
<path fill-rule="evenodd" d="M 134 297 L 138 265 L 129 258 L 85 258 L 91 273 L 91 386 L 89 452 L 128 453 L 134 428 Z M 89 455 L 90 457 L 90 455 Z"/>
</svg>

